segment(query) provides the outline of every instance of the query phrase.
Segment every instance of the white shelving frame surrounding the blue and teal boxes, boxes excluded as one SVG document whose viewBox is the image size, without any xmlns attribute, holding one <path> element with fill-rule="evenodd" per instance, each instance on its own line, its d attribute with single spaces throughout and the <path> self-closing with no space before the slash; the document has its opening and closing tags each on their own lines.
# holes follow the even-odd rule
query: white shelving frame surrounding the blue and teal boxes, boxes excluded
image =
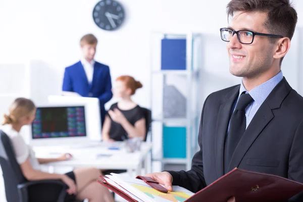
<svg viewBox="0 0 303 202">
<path fill-rule="evenodd" d="M 164 33 L 164 32 L 154 32 L 151 34 L 151 54 L 150 54 L 150 75 L 151 75 L 151 108 L 153 111 L 153 162 L 160 162 L 163 164 L 182 164 L 186 166 L 186 169 L 191 168 L 192 150 L 195 150 L 196 141 L 195 134 L 198 128 L 197 120 L 200 116 L 200 112 L 197 110 L 198 100 L 197 94 L 198 78 L 202 69 L 203 61 L 200 58 L 202 43 L 200 33 Z M 161 69 L 161 45 L 162 39 L 186 39 L 186 67 L 185 70 L 162 70 Z M 173 66 L 172 66 L 173 67 Z M 175 83 L 174 83 L 175 82 Z M 163 107 L 169 106 L 169 104 L 164 103 L 164 90 L 165 85 L 171 85 L 179 91 L 186 99 L 184 110 L 184 101 L 182 101 L 182 110 L 180 113 L 175 113 L 175 115 L 184 115 L 184 117 L 179 118 L 164 118 L 163 117 Z M 166 94 L 167 95 L 167 94 Z M 181 95 L 176 94 L 177 97 Z M 183 97 L 182 97 L 183 98 Z M 181 98 L 180 98 L 181 99 Z M 172 101 L 178 101 L 171 98 Z M 165 105 L 164 105 L 165 104 Z M 172 103 L 172 106 L 178 105 L 178 102 Z M 171 107 L 171 106 L 169 106 Z M 176 109 L 175 109 L 176 108 Z M 172 112 L 178 110 L 178 107 L 170 109 Z M 174 114 L 174 113 L 170 113 Z M 186 158 L 163 158 L 161 154 L 167 148 L 163 148 L 163 126 L 168 127 L 186 127 L 185 136 L 185 146 L 186 146 Z M 158 131 L 158 132 L 156 132 Z M 182 137 L 183 138 L 183 137 Z M 167 140 L 166 140 L 167 141 Z M 182 139 L 183 141 L 183 139 Z M 173 146 L 172 146 L 173 147 Z M 178 148 L 173 148 L 178 150 Z M 184 155 L 182 155 L 184 156 Z M 178 157 L 182 157 L 181 155 Z M 174 156 L 169 156 L 174 157 Z"/>
</svg>

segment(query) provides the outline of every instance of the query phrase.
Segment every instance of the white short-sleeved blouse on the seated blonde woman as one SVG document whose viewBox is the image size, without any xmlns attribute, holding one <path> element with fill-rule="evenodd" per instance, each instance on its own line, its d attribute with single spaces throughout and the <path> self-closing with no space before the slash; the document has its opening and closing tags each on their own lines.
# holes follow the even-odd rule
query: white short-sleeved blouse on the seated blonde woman
<svg viewBox="0 0 303 202">
<path fill-rule="evenodd" d="M 3 130 L 3 132 L 5 132 L 10 137 L 18 164 L 23 164 L 28 158 L 33 169 L 40 170 L 40 164 L 35 157 L 35 152 L 30 145 L 25 143 L 20 132 L 17 132 L 9 124 L 2 126 L 1 130 Z"/>
</svg>

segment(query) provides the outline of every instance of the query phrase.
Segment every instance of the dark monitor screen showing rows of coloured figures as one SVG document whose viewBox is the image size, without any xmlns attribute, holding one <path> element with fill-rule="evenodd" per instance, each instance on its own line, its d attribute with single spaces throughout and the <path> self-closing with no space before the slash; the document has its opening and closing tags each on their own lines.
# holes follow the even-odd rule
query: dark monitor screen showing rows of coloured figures
<svg viewBox="0 0 303 202">
<path fill-rule="evenodd" d="M 33 139 L 80 136 L 86 136 L 84 106 L 37 108 Z"/>
</svg>

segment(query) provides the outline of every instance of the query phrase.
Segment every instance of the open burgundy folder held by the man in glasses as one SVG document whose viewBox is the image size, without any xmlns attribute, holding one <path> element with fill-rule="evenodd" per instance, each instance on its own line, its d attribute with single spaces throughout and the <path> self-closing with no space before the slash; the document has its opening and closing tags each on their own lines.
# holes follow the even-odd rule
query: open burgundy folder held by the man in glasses
<svg viewBox="0 0 303 202">
<path fill-rule="evenodd" d="M 119 194 L 127 201 L 135 202 L 133 198 L 123 193 L 119 189 L 106 182 L 106 177 L 100 176 L 103 180 L 98 182 L 115 193 Z M 137 176 L 143 179 L 144 176 Z M 159 184 L 152 179 L 145 179 L 145 182 L 157 190 Z M 166 192 L 167 190 L 161 190 Z M 233 169 L 209 186 L 198 191 L 185 202 L 212 201 L 225 202 L 230 197 L 235 196 L 236 202 L 256 202 L 256 201 L 285 201 L 293 195 L 303 191 L 303 184 L 280 176 L 251 172 L 241 169 Z"/>
</svg>

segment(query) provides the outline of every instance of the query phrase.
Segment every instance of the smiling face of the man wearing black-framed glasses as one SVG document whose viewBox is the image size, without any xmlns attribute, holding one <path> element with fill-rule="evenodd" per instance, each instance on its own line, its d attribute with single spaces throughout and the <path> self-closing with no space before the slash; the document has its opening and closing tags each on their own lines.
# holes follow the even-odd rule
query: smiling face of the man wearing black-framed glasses
<svg viewBox="0 0 303 202">
<path fill-rule="evenodd" d="M 264 27 L 266 19 L 266 13 L 235 12 L 228 27 L 235 31 L 268 33 Z M 229 71 L 238 77 L 256 77 L 270 69 L 273 62 L 273 44 L 269 37 L 256 35 L 251 44 L 242 44 L 234 34 L 226 47 L 230 61 Z"/>
</svg>

